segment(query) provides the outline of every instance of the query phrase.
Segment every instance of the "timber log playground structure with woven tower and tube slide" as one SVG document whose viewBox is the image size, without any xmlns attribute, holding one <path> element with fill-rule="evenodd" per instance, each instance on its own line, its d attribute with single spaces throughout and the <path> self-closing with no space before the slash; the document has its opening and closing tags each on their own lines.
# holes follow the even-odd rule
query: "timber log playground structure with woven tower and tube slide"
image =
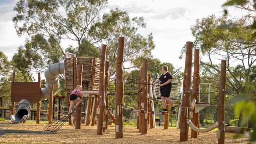
<svg viewBox="0 0 256 144">
<path fill-rule="evenodd" d="M 188 127 L 192 129 L 191 138 L 197 138 L 198 132 L 207 132 L 215 127 L 219 126 L 217 131 L 217 137 L 219 138 L 219 143 L 224 143 L 224 94 L 225 94 L 225 85 L 226 85 L 226 67 L 225 61 L 222 61 L 221 65 L 221 81 L 219 85 L 219 122 L 216 122 L 213 126 L 210 126 L 206 129 L 200 129 L 198 124 L 198 112 L 203 107 L 210 105 L 210 98 L 208 98 L 208 103 L 200 102 L 199 95 L 199 50 L 195 50 L 195 66 L 194 66 L 194 76 L 193 76 L 193 91 L 190 92 L 191 85 L 191 67 L 192 67 L 192 46 L 193 42 L 187 42 L 187 51 L 186 51 L 186 61 L 185 61 L 185 72 L 184 72 L 184 81 L 183 81 L 183 90 L 180 104 L 180 141 L 188 140 Z M 65 81 L 66 81 L 66 90 L 67 90 L 67 100 L 69 103 L 69 94 L 76 87 L 76 85 L 82 85 L 82 93 L 88 95 L 88 98 L 83 104 L 86 104 L 86 118 L 85 125 L 93 126 L 95 123 L 95 116 L 98 114 L 97 120 L 97 135 L 102 135 L 104 130 L 107 129 L 108 114 L 115 123 L 115 137 L 123 137 L 123 109 L 130 109 L 132 112 L 137 113 L 137 129 L 141 134 L 147 134 L 148 128 L 156 127 L 154 112 L 154 102 L 153 102 L 153 92 L 156 96 L 158 94 L 157 89 L 159 86 L 150 87 L 150 76 L 147 74 L 147 60 L 143 60 L 143 67 L 141 68 L 141 76 L 138 76 L 138 104 L 135 107 L 126 108 L 124 107 L 123 95 L 124 95 L 124 83 L 123 83 L 123 74 L 122 74 L 122 62 L 123 62 L 123 53 L 124 53 L 124 38 L 119 37 L 118 41 L 118 50 L 117 50 L 117 78 L 116 78 L 116 102 L 115 102 L 115 112 L 113 114 L 108 109 L 108 63 L 106 62 L 106 45 L 102 45 L 102 51 L 100 55 L 100 61 L 96 58 L 82 58 L 82 57 L 69 57 L 66 58 L 64 63 L 56 63 L 50 65 L 45 72 L 46 81 L 48 83 L 45 89 L 41 90 L 41 80 L 37 83 L 15 83 L 15 75 L 12 83 L 12 102 L 19 102 L 22 99 L 24 100 L 16 114 L 11 116 L 13 122 L 22 122 L 30 116 L 30 107 L 33 103 L 39 103 L 40 100 L 45 98 L 50 98 L 50 110 L 52 111 L 52 96 L 59 89 L 58 74 L 64 74 L 65 69 Z M 38 74 L 40 79 L 40 74 Z M 174 84 L 177 81 L 173 81 Z M 19 85 L 19 87 L 15 87 Z M 23 87 L 23 85 L 33 85 L 33 88 L 37 91 L 34 94 L 27 94 L 24 90 L 22 92 L 17 91 L 17 89 L 28 89 L 28 87 Z M 179 87 L 173 88 L 174 92 L 172 93 L 173 101 L 177 101 L 179 96 Z M 31 90 L 32 91 L 32 90 Z M 19 99 L 16 97 L 19 94 Z M 193 102 L 190 100 L 190 94 L 192 93 Z M 209 91 L 210 94 L 210 91 Z M 28 96 L 34 98 L 30 98 Z M 33 96 L 32 96 L 33 95 Z M 94 98 L 93 98 L 94 96 Z M 210 96 L 210 95 L 209 95 Z M 15 99 L 16 98 L 16 99 Z M 99 106 L 98 106 L 99 101 Z M 92 105 L 93 102 L 93 105 Z M 39 104 L 37 104 L 38 106 Z M 39 105 L 40 107 L 40 105 Z M 92 109 L 91 109 L 92 108 Z M 167 105 L 168 109 L 168 105 Z M 193 109 L 192 113 L 189 109 Z M 22 113 L 25 111 L 26 113 Z M 40 113 L 40 109 L 38 109 Z M 76 129 L 81 129 L 81 109 L 74 109 L 72 114 L 76 113 Z M 63 121 L 56 120 L 56 123 L 52 122 L 52 118 L 49 118 L 49 126 L 53 127 L 52 124 L 57 125 L 54 127 L 52 133 L 56 133 L 58 129 L 63 126 L 63 124 L 69 121 L 71 124 L 71 116 L 63 115 Z M 168 128 L 168 112 L 160 113 L 165 115 L 165 125 L 164 129 Z M 49 114 L 51 115 L 51 114 Z M 192 118 L 192 121 L 189 120 Z M 38 123 L 39 123 L 39 119 Z M 59 123 L 58 123 L 59 122 Z M 47 128 L 46 128 L 46 131 Z"/>
</svg>

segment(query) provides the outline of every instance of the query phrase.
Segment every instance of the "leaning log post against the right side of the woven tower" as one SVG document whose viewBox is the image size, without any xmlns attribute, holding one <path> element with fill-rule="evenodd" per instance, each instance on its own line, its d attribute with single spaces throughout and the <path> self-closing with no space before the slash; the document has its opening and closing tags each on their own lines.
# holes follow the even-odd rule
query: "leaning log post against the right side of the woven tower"
<svg viewBox="0 0 256 144">
<path fill-rule="evenodd" d="M 91 83 L 90 83 L 90 89 L 93 90 L 93 84 L 94 84 L 94 73 L 95 73 L 95 65 L 96 65 L 96 58 L 93 58 L 93 68 L 91 70 Z M 90 94 L 90 99 L 88 100 L 88 108 L 87 108 L 87 115 L 86 115 L 86 126 L 89 126 L 90 124 L 90 113 L 91 113 L 91 99 L 93 98 L 93 95 Z"/>
</svg>

